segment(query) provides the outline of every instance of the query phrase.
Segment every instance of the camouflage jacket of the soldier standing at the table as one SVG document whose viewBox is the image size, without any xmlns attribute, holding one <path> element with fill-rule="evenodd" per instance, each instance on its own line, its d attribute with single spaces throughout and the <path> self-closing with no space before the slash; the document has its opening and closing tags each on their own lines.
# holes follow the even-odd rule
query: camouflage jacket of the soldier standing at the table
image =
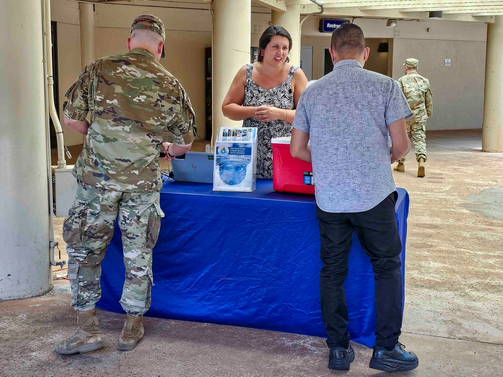
<svg viewBox="0 0 503 377">
<path fill-rule="evenodd" d="M 144 49 L 89 64 L 66 92 L 64 115 L 90 126 L 73 175 L 107 190 L 160 190 L 164 132 L 192 143 L 196 119 L 184 88 Z"/>
</svg>

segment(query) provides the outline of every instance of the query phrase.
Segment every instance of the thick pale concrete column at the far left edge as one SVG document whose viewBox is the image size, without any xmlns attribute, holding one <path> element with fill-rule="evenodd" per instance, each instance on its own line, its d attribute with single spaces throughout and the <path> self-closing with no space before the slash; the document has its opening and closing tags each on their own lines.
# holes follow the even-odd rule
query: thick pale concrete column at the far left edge
<svg viewBox="0 0 503 377">
<path fill-rule="evenodd" d="M 41 1 L 0 2 L 0 35 L 0 300 L 9 300 L 52 286 Z"/>
</svg>

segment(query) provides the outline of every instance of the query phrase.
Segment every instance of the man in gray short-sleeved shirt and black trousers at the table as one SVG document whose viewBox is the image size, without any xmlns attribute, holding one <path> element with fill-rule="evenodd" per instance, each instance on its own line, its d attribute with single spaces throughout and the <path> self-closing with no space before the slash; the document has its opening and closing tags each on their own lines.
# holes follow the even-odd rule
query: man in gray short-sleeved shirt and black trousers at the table
<svg viewBox="0 0 503 377">
<path fill-rule="evenodd" d="M 391 163 L 410 148 L 405 119 L 412 112 L 396 81 L 363 69 L 370 49 L 360 27 L 344 24 L 333 32 L 330 47 L 333 71 L 302 93 L 290 144 L 293 157 L 313 164 L 328 367 L 349 369 L 355 358 L 347 331 L 344 280 L 356 231 L 375 273 L 376 345 L 369 366 L 413 369 L 417 357 L 398 342 L 402 247 L 391 174 Z"/>
</svg>

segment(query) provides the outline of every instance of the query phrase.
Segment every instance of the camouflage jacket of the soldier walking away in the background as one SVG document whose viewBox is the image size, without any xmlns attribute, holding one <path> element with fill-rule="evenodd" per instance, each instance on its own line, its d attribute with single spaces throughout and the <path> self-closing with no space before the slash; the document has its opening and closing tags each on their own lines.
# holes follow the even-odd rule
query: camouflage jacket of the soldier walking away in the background
<svg viewBox="0 0 503 377">
<path fill-rule="evenodd" d="M 424 121 L 433 115 L 433 93 L 430 81 L 417 73 L 409 73 L 398 79 L 416 121 Z"/>
</svg>

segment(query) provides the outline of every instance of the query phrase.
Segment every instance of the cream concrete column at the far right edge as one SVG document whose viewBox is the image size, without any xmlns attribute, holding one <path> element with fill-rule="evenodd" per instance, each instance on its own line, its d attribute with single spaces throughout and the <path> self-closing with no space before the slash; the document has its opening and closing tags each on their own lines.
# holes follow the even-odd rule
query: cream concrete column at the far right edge
<svg viewBox="0 0 503 377">
<path fill-rule="evenodd" d="M 482 150 L 503 152 L 503 16 L 487 25 Z"/>
</svg>

